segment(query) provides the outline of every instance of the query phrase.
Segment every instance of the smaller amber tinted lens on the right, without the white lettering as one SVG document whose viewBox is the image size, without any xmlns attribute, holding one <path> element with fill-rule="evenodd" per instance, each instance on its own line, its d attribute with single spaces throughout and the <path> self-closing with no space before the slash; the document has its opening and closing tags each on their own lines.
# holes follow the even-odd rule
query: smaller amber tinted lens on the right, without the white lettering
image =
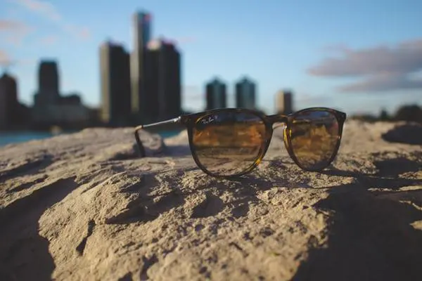
<svg viewBox="0 0 422 281">
<path fill-rule="evenodd" d="M 290 124 L 291 150 L 305 169 L 324 169 L 337 152 L 340 128 L 333 113 L 305 111 Z"/>
</svg>

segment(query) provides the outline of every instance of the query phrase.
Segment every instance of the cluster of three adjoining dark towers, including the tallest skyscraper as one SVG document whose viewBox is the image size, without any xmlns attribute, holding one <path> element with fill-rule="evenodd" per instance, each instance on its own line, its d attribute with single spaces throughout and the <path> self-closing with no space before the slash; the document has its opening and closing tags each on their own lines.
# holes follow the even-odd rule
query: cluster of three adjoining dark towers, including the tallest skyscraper
<svg viewBox="0 0 422 281">
<path fill-rule="evenodd" d="M 181 55 L 172 41 L 152 39 L 148 11 L 132 15 L 132 51 L 106 42 L 100 47 L 101 119 L 127 126 L 181 115 Z"/>
</svg>

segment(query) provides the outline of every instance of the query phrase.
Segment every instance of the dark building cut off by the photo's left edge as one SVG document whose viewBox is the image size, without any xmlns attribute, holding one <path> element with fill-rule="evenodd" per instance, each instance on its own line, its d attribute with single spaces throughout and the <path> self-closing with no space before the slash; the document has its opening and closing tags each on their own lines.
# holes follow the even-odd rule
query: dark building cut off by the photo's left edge
<svg viewBox="0 0 422 281">
<path fill-rule="evenodd" d="M 11 75 L 0 77 L 0 129 L 10 129 L 19 119 L 18 86 Z"/>
</svg>

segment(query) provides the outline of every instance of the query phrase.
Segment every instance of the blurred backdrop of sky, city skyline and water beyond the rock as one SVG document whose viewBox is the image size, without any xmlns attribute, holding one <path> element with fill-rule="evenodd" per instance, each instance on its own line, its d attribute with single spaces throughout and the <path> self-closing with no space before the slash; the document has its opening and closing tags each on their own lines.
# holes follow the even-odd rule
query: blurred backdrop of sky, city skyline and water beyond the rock
<svg viewBox="0 0 422 281">
<path fill-rule="evenodd" d="M 0 145 L 220 107 L 422 122 L 421 11 L 416 0 L 1 0 Z"/>
</svg>

